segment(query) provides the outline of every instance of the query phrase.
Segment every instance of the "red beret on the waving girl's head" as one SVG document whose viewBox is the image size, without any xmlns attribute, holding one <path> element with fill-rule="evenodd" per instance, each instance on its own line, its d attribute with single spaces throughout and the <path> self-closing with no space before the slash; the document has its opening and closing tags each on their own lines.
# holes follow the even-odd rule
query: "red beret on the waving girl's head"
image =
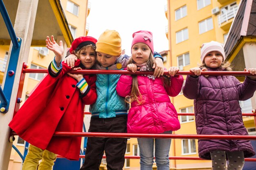
<svg viewBox="0 0 256 170">
<path fill-rule="evenodd" d="M 83 46 L 86 45 L 92 44 L 93 46 L 96 46 L 96 42 L 97 40 L 90 36 L 76 38 L 71 44 L 70 53 L 72 53 L 72 51 L 79 51 Z"/>
</svg>

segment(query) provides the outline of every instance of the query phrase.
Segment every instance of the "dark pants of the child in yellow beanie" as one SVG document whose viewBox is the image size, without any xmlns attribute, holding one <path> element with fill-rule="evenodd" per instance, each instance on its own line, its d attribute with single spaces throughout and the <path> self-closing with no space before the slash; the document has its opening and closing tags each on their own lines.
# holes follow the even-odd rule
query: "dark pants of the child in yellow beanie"
<svg viewBox="0 0 256 170">
<path fill-rule="evenodd" d="M 127 115 L 112 118 L 92 118 L 88 132 L 126 133 Z M 122 170 L 127 138 L 88 137 L 85 161 L 80 170 L 99 170 L 105 151 L 108 170 Z"/>
</svg>

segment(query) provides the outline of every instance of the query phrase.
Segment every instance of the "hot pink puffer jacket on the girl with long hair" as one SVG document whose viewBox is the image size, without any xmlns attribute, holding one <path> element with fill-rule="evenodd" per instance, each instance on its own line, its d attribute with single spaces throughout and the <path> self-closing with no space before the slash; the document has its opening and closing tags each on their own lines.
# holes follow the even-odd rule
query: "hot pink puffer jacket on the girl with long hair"
<svg viewBox="0 0 256 170">
<path fill-rule="evenodd" d="M 164 78 L 155 80 L 138 75 L 138 88 L 144 103 L 131 103 L 128 113 L 128 133 L 162 133 L 180 129 L 177 111 L 171 104 L 170 96 L 174 97 L 181 91 L 184 78 L 171 77 L 171 86 L 164 87 Z M 117 83 L 117 94 L 126 97 L 131 94 L 132 76 L 121 75 Z"/>
</svg>

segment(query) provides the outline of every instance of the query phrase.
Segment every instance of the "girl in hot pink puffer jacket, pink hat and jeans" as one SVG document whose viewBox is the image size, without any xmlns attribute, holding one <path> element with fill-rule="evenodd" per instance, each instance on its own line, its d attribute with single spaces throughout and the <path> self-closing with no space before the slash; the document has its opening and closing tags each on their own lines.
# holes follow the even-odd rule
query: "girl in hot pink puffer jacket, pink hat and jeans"
<svg viewBox="0 0 256 170">
<path fill-rule="evenodd" d="M 149 31 L 137 31 L 132 35 L 132 57 L 127 70 L 136 72 L 153 71 L 153 39 Z M 117 94 L 131 103 L 128 113 L 128 133 L 164 133 L 171 134 L 180 129 L 177 112 L 169 96 L 180 93 L 183 77 L 174 76 L 177 67 L 169 69 L 169 77 L 153 75 L 121 75 L 117 83 Z M 152 170 L 155 140 L 155 160 L 157 169 L 169 170 L 169 150 L 171 139 L 138 138 L 141 170 Z"/>
</svg>

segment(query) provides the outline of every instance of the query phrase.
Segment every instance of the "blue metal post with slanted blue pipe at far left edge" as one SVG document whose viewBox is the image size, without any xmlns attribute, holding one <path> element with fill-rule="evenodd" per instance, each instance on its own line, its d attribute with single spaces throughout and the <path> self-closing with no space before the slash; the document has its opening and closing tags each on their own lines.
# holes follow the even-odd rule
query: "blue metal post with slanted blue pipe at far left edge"
<svg viewBox="0 0 256 170">
<path fill-rule="evenodd" d="M 4 22 L 7 26 L 7 30 L 11 37 L 11 41 L 13 43 L 9 64 L 7 67 L 8 76 L 6 76 L 6 79 L 4 82 L 3 93 L 2 92 L 0 93 L 1 95 L 0 113 L 7 113 L 9 110 L 9 101 L 11 99 L 11 92 L 12 92 L 14 77 L 15 77 L 13 75 L 15 75 L 16 73 L 16 68 L 17 68 L 18 58 L 20 53 L 20 44 L 22 40 L 16 37 L 13 26 L 11 24 L 11 20 L 9 18 L 7 10 L 4 6 L 4 2 L 2 0 L 0 0 L 0 12 L 2 14 Z"/>
</svg>

